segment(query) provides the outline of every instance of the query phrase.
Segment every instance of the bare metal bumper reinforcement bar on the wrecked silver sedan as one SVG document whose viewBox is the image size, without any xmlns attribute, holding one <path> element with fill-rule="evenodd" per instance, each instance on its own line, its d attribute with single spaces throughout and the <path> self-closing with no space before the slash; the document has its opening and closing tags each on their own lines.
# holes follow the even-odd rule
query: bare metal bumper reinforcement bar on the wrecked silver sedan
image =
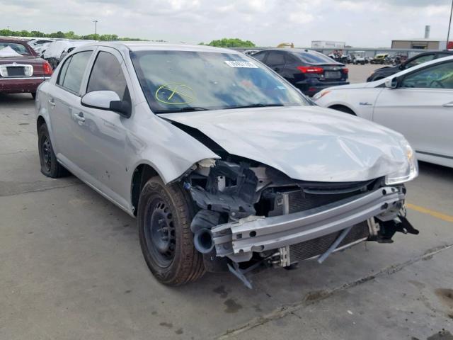
<svg viewBox="0 0 453 340">
<path fill-rule="evenodd" d="M 243 262 L 251 259 L 253 251 L 268 251 L 323 237 L 371 217 L 394 219 L 404 197 L 401 187 L 387 186 L 289 215 L 249 216 L 218 225 L 212 228 L 216 254 Z"/>
</svg>

